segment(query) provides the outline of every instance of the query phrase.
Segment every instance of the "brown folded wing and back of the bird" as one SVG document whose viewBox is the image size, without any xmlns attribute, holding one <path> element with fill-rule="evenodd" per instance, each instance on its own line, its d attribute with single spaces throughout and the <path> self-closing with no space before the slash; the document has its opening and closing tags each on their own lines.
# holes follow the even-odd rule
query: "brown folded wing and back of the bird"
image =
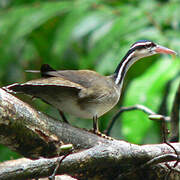
<svg viewBox="0 0 180 180">
<path fill-rule="evenodd" d="M 38 93 L 49 91 L 76 91 L 80 98 L 96 99 L 103 92 L 109 93 L 107 78 L 90 70 L 56 71 L 49 65 L 41 67 L 43 78 L 28 81 L 23 84 L 14 84 L 6 88 L 14 92 L 23 92 L 37 96 Z M 46 88 L 45 88 L 46 87 Z M 107 90 L 105 90 L 107 89 Z M 97 93 L 94 93 L 97 92 Z"/>
</svg>

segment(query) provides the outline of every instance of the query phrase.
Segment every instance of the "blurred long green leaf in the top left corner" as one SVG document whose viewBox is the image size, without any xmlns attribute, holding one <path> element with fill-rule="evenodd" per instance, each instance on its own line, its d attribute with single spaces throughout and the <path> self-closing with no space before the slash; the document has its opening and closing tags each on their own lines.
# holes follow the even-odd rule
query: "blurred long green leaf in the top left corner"
<svg viewBox="0 0 180 180">
<path fill-rule="evenodd" d="M 22 48 L 27 36 L 47 20 L 72 8 L 70 2 L 46 2 L 38 5 L 20 6 L 0 14 L 1 67 L 12 59 L 12 52 Z M 17 41 L 19 41 L 17 43 Z"/>
</svg>

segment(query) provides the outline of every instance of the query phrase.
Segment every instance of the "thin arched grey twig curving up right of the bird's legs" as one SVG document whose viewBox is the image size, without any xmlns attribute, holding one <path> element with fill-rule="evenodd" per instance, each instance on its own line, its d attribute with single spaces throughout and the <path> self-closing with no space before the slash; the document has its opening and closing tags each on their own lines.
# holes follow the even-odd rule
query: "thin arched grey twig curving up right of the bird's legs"
<svg viewBox="0 0 180 180">
<path fill-rule="evenodd" d="M 153 112 L 151 109 L 143 106 L 143 105 L 134 105 L 134 106 L 129 106 L 129 107 L 122 107 L 120 108 L 120 110 L 116 113 L 116 115 L 112 118 L 112 120 L 110 121 L 108 128 L 104 131 L 105 134 L 109 135 L 110 131 L 114 125 L 114 123 L 116 122 L 116 120 L 119 118 L 119 116 L 126 111 L 132 111 L 132 110 L 140 110 L 148 115 L 154 115 L 156 114 L 155 112 Z M 164 117 L 166 119 L 166 121 L 169 121 L 168 117 Z"/>
</svg>

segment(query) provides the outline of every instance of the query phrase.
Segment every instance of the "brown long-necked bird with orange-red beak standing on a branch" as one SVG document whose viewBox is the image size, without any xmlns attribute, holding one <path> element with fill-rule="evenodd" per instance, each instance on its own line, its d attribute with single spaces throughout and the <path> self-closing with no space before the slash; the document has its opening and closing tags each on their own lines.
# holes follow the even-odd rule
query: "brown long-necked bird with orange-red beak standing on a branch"
<svg viewBox="0 0 180 180">
<path fill-rule="evenodd" d="M 78 118 L 93 119 L 93 132 L 99 134 L 98 118 L 119 101 L 125 75 L 139 59 L 176 52 L 153 41 L 139 40 L 130 46 L 114 73 L 103 76 L 92 70 L 55 70 L 43 64 L 41 78 L 3 87 L 10 93 L 24 93 Z"/>
</svg>

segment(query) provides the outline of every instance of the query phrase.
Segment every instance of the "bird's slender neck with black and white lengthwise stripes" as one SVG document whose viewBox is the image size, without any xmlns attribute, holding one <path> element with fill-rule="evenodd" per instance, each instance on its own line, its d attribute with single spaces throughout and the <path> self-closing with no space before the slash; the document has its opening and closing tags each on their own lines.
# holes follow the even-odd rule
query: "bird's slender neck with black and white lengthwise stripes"
<svg viewBox="0 0 180 180">
<path fill-rule="evenodd" d="M 122 88 L 125 75 L 128 69 L 135 63 L 139 58 L 134 56 L 134 51 L 129 50 L 127 54 L 123 57 L 119 65 L 117 66 L 114 72 L 114 81 L 115 84 Z"/>
</svg>

